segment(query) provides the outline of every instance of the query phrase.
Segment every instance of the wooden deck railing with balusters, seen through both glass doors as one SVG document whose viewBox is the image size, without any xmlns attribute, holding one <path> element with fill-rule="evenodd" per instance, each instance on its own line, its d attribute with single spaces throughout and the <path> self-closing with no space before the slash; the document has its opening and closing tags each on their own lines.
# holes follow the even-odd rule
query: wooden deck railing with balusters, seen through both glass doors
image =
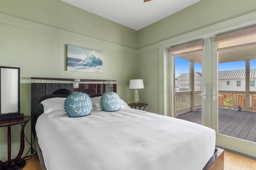
<svg viewBox="0 0 256 170">
<path fill-rule="evenodd" d="M 201 91 L 196 91 L 194 95 L 194 108 L 202 106 Z M 246 98 L 245 92 L 240 91 L 219 91 L 218 106 L 222 108 L 234 108 L 238 106 L 245 109 Z M 176 92 L 175 93 L 175 113 L 190 109 L 191 92 Z M 256 111 L 256 92 L 250 92 L 250 110 Z"/>
</svg>

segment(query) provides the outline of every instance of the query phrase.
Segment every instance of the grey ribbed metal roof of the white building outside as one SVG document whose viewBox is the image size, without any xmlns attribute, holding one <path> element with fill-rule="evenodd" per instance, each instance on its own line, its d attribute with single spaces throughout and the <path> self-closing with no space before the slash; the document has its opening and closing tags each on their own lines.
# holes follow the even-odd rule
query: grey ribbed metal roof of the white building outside
<svg viewBox="0 0 256 170">
<path fill-rule="evenodd" d="M 250 69 L 250 78 L 256 78 L 256 68 Z M 218 79 L 245 79 L 245 70 L 219 71 Z"/>
</svg>

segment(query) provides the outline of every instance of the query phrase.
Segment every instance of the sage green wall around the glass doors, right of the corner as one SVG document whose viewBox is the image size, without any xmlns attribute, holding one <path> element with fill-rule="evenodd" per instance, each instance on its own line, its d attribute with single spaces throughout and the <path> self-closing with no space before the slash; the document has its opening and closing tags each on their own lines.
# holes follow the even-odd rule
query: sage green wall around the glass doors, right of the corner
<svg viewBox="0 0 256 170">
<path fill-rule="evenodd" d="M 164 66 L 159 66 L 159 42 L 254 11 L 256 0 L 201 0 L 138 30 L 138 77 L 143 78 L 145 87 L 140 99 L 149 104 L 147 109 L 160 112 L 158 80 Z"/>
</svg>

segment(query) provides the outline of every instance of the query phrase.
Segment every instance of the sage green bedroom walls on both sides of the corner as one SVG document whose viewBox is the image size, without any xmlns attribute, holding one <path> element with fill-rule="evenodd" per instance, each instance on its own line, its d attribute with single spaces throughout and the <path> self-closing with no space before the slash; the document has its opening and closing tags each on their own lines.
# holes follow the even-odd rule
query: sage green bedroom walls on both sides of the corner
<svg viewBox="0 0 256 170">
<path fill-rule="evenodd" d="M 202 0 L 138 31 L 62 1 L 1 0 L 0 10 L 0 65 L 21 68 L 21 111 L 25 115 L 30 115 L 31 77 L 118 80 L 117 92 L 127 103 L 133 98 L 129 80 L 142 78 L 145 88 L 140 90 L 140 100 L 149 104 L 146 111 L 163 114 L 157 81 L 160 72 L 158 43 L 255 12 L 255 1 Z M 206 11 L 209 14 L 205 14 Z M 102 50 L 103 73 L 66 71 L 66 44 Z M 112 61 L 116 62 L 113 64 Z M 27 136 L 30 136 L 29 132 L 28 126 L 25 129 Z M 2 128 L 0 135 L 2 160 L 6 155 L 7 141 L 6 131 Z M 16 154 L 19 140 L 12 139 L 16 140 L 12 146 L 12 152 Z M 28 148 L 26 145 L 24 153 Z"/>
</svg>

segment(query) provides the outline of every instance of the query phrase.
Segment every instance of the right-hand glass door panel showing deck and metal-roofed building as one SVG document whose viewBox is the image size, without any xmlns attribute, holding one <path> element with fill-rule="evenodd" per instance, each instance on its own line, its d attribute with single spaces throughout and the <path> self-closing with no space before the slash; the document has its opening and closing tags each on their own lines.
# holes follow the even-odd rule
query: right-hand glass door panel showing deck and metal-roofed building
<svg viewBox="0 0 256 170">
<path fill-rule="evenodd" d="M 212 38 L 216 145 L 256 156 L 256 27 Z M 217 76 L 218 75 L 218 76 Z"/>
</svg>

